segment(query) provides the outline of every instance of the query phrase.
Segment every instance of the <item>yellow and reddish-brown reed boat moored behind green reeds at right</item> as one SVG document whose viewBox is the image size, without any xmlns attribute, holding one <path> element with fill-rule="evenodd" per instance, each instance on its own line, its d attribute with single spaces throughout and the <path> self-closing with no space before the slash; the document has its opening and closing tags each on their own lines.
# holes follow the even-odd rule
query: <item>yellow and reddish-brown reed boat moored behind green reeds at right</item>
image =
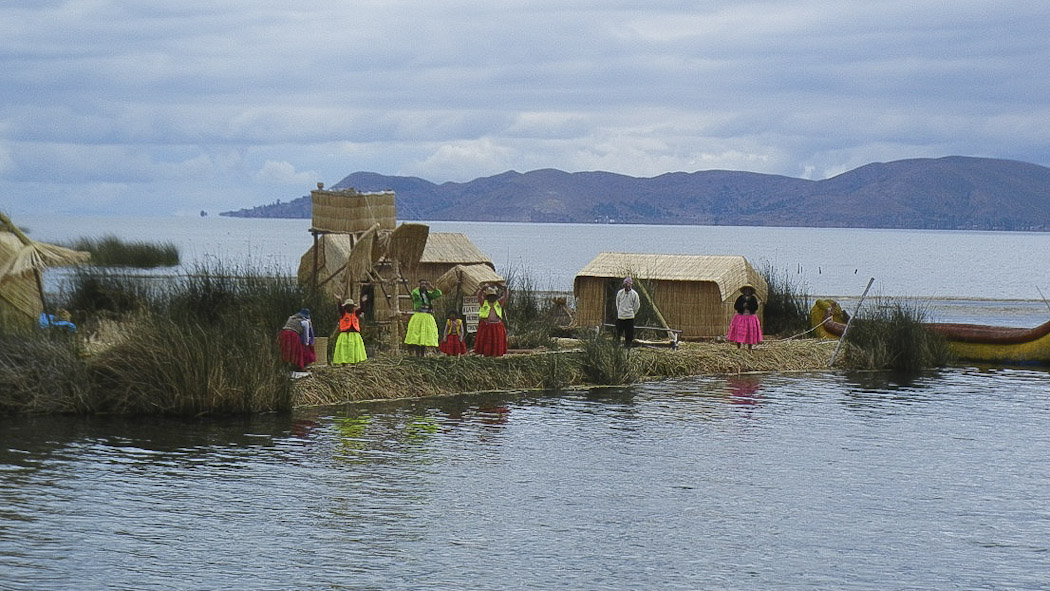
<svg viewBox="0 0 1050 591">
<path fill-rule="evenodd" d="M 848 318 L 838 302 L 830 299 L 817 300 L 810 311 L 810 321 L 823 338 L 842 336 Z M 923 325 L 943 336 L 951 354 L 961 360 L 1050 365 L 1050 320 L 1031 329 L 954 322 Z"/>
</svg>

